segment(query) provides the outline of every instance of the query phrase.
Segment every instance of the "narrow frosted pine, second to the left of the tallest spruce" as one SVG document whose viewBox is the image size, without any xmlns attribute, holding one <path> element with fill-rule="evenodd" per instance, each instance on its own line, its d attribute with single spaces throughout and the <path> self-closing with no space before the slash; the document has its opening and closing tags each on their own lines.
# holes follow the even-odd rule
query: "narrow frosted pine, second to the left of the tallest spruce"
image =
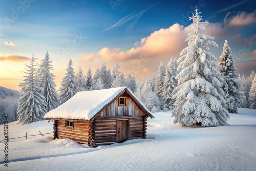
<svg viewBox="0 0 256 171">
<path fill-rule="evenodd" d="M 157 75 L 156 75 L 156 79 L 155 79 L 155 91 L 157 93 L 157 96 L 159 98 L 159 100 L 161 101 L 161 108 L 164 105 L 164 100 L 163 100 L 163 83 L 164 83 L 164 77 L 165 77 L 165 70 L 166 70 L 166 66 L 163 63 L 163 61 L 161 61 L 159 67 L 158 67 L 158 71 L 157 71 Z"/>
</svg>

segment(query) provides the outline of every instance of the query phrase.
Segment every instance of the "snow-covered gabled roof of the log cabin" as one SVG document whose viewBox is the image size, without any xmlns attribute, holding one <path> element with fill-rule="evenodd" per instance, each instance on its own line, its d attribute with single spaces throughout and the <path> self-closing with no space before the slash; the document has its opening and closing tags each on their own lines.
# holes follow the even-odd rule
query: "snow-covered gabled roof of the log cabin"
<svg viewBox="0 0 256 171">
<path fill-rule="evenodd" d="M 151 118 L 154 116 L 127 87 L 81 91 L 44 116 L 44 119 L 91 120 L 122 93 L 127 92 L 141 109 Z"/>
</svg>

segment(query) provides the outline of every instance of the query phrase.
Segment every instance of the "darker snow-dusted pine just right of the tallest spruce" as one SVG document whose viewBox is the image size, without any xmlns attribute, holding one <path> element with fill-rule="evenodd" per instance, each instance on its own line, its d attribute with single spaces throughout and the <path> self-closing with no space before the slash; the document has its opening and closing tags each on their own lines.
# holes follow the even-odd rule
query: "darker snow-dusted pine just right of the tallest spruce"
<svg viewBox="0 0 256 171">
<path fill-rule="evenodd" d="M 222 89 L 224 91 L 224 98 L 229 113 L 237 113 L 237 107 L 240 106 L 240 97 L 244 95 L 239 90 L 238 72 L 234 66 L 231 48 L 228 46 L 228 41 L 225 40 L 222 54 L 220 56 L 221 61 L 220 73 L 224 79 Z"/>
</svg>

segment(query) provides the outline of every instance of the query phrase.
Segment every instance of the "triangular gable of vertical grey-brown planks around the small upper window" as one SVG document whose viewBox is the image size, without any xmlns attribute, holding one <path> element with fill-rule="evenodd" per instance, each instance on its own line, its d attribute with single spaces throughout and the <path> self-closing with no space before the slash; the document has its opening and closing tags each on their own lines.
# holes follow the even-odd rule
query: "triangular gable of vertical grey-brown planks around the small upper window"
<svg viewBox="0 0 256 171">
<path fill-rule="evenodd" d="M 100 113 L 100 116 L 143 116 L 145 112 L 139 105 L 127 94 L 123 93 L 122 97 L 127 97 L 127 106 L 118 106 L 118 98 L 113 101 L 105 110 Z"/>
</svg>

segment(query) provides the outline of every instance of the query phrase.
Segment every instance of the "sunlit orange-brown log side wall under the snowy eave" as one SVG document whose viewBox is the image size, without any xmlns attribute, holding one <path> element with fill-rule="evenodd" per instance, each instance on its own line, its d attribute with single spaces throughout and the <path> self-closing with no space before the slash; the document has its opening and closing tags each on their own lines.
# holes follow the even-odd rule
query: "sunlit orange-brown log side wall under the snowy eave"
<svg viewBox="0 0 256 171">
<path fill-rule="evenodd" d="M 56 138 L 63 139 L 69 138 L 73 141 L 87 144 L 89 133 L 89 121 L 73 121 L 72 127 L 65 127 L 66 120 L 55 120 L 57 125 Z"/>
</svg>

